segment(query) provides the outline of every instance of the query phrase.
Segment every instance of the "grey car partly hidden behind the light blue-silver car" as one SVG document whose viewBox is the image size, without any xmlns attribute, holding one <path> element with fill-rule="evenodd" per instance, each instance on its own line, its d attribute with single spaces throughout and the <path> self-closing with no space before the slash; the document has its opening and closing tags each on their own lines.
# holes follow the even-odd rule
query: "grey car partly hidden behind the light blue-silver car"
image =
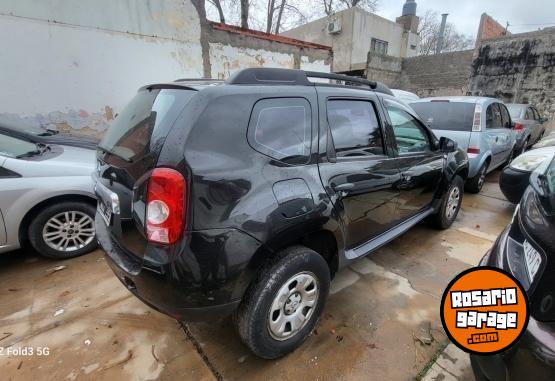
<svg viewBox="0 0 555 381">
<path fill-rule="evenodd" d="M 547 119 L 540 116 L 535 107 L 524 104 L 508 104 L 507 108 L 513 120 L 516 132 L 516 146 L 519 154 L 543 138 L 544 123 Z"/>
</svg>

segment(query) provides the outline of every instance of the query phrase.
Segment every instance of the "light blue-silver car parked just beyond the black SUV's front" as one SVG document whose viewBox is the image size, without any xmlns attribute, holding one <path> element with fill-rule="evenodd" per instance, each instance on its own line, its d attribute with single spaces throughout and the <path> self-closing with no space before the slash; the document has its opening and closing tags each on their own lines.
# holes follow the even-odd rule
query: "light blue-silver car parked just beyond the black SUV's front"
<svg viewBox="0 0 555 381">
<path fill-rule="evenodd" d="M 486 97 L 423 98 L 410 106 L 437 137 L 456 141 L 469 159 L 466 190 L 478 193 L 486 174 L 513 158 L 516 134 L 507 107 Z"/>
</svg>

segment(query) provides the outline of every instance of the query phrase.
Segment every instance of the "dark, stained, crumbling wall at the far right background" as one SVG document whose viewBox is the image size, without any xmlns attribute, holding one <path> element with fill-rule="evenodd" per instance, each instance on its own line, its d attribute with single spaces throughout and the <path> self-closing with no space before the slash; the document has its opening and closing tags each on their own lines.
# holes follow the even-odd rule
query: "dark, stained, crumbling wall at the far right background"
<svg viewBox="0 0 555 381">
<path fill-rule="evenodd" d="M 555 28 L 482 41 L 471 65 L 470 91 L 534 104 L 553 125 Z"/>
</svg>

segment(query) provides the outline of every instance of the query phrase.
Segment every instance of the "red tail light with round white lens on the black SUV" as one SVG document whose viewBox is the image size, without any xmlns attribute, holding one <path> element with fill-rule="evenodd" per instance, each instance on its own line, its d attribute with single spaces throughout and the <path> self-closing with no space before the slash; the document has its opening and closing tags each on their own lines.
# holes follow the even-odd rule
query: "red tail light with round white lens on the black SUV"
<svg viewBox="0 0 555 381">
<path fill-rule="evenodd" d="M 150 242 L 172 244 L 183 232 L 185 179 L 170 168 L 156 168 L 148 182 L 146 236 Z"/>
</svg>

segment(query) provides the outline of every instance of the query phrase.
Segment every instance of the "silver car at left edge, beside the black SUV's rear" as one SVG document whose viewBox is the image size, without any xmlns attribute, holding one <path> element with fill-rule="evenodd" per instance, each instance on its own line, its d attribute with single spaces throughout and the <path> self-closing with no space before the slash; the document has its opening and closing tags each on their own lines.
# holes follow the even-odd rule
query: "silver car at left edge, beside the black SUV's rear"
<svg viewBox="0 0 555 381">
<path fill-rule="evenodd" d="M 95 151 L 0 132 L 0 253 L 29 243 L 71 258 L 96 248 Z"/>
</svg>

